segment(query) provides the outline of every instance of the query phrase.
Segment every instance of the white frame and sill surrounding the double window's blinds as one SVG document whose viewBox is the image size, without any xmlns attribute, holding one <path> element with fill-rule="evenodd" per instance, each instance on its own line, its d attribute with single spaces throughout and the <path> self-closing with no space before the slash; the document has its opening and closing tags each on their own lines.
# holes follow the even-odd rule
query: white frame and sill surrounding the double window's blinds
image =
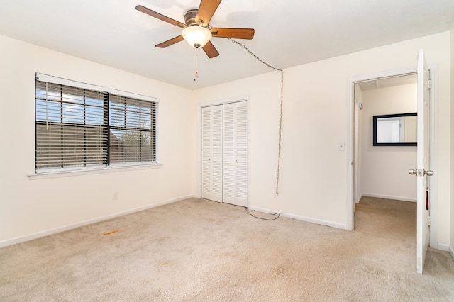
<svg viewBox="0 0 454 302">
<path fill-rule="evenodd" d="M 74 167 L 49 167 L 49 168 L 43 168 L 43 167 L 38 167 L 38 124 L 43 123 L 43 121 L 38 121 L 38 98 L 37 98 L 37 91 L 38 91 L 38 81 L 40 82 L 48 82 L 51 84 L 57 84 L 57 85 L 64 85 L 64 86 L 70 86 L 74 89 L 87 89 L 90 91 L 96 91 L 96 92 L 101 92 L 101 94 L 104 95 L 103 99 L 103 107 L 102 107 L 102 119 L 104 123 L 102 124 L 102 128 L 106 130 L 107 136 L 111 136 L 111 128 L 114 127 L 111 125 L 111 121 L 109 121 L 109 110 L 110 110 L 110 102 L 111 102 L 111 96 L 120 96 L 122 98 L 128 98 L 128 99 L 134 99 L 138 101 L 138 104 L 142 104 L 141 102 L 148 102 L 148 103 L 153 103 L 150 104 L 150 121 L 153 121 L 153 125 L 150 123 L 150 127 L 153 127 L 150 131 L 147 133 L 150 133 L 150 159 L 147 161 L 133 161 L 133 162 L 121 162 L 121 163 L 114 163 L 111 164 L 111 159 L 110 159 L 110 152 L 109 149 L 111 148 L 109 138 L 105 141 L 102 142 L 104 147 L 101 148 L 106 148 L 107 150 L 107 155 L 106 155 L 106 164 L 104 162 L 102 164 L 93 164 L 93 165 L 83 165 L 85 164 L 84 162 L 79 163 L 79 165 L 74 166 Z M 144 103 L 146 104 L 146 103 Z M 84 106 L 86 106 L 84 104 Z M 139 110 L 142 109 L 139 105 Z M 144 106 L 146 108 L 146 106 Z M 85 108 L 84 108 L 85 111 Z M 154 112 L 153 112 L 154 111 Z M 107 113 L 106 113 L 107 112 Z M 98 113 L 99 114 L 99 113 Z M 105 119 L 107 116 L 107 119 Z M 85 123 L 85 122 L 84 122 Z M 86 124 L 81 124 L 83 127 Z M 61 123 L 61 126 L 63 123 Z M 77 124 L 78 125 L 78 124 Z M 76 125 L 76 127 L 77 127 Z M 28 177 L 30 179 L 40 179 L 40 178 L 48 178 L 48 177 L 62 177 L 62 176 L 70 176 L 70 175 L 79 175 L 79 174 L 96 174 L 96 173 L 104 173 L 104 172 L 116 172 L 116 171 L 129 171 L 129 170 L 136 170 L 136 169 L 155 169 L 158 167 L 161 167 L 162 164 L 159 164 L 159 152 L 158 152 L 158 125 L 159 125 L 159 99 L 153 98 L 150 96 L 143 96 L 140 94 L 134 94 L 131 92 L 127 91 L 121 91 L 117 89 L 109 89 L 103 86 L 96 86 L 93 84 L 87 84 L 83 82 L 77 82 L 73 81 L 70 79 L 63 79 L 60 77 L 53 77 L 47 74 L 40 74 L 40 73 L 35 73 L 35 152 L 34 152 L 34 172 L 28 174 Z M 139 123 L 139 126 L 137 129 L 142 131 L 141 129 L 141 124 Z M 146 131 L 145 131 L 146 132 Z M 140 154 L 141 150 L 140 150 Z"/>
</svg>

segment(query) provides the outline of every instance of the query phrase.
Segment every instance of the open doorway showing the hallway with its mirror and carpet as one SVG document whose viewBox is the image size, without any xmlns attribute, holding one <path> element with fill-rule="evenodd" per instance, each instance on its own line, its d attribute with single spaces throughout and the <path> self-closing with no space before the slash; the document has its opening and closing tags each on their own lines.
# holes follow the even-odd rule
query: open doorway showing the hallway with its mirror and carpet
<svg viewBox="0 0 454 302">
<path fill-rule="evenodd" d="M 408 169 L 416 167 L 417 74 L 355 82 L 354 89 L 355 230 L 413 255 L 417 186 Z"/>
</svg>

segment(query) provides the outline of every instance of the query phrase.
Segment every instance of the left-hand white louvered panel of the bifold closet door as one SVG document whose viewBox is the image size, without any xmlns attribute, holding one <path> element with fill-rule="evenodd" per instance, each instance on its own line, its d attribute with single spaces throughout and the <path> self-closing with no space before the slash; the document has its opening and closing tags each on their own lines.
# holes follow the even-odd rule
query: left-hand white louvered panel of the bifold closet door
<svg viewBox="0 0 454 302">
<path fill-rule="evenodd" d="M 201 197 L 222 202 L 222 105 L 201 109 Z"/>
</svg>

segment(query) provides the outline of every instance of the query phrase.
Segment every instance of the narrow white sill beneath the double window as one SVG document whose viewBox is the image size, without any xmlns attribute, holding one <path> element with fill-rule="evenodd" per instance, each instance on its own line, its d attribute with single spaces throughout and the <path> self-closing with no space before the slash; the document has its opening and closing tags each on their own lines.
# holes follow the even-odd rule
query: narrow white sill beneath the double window
<svg viewBox="0 0 454 302">
<path fill-rule="evenodd" d="M 87 169 L 59 169 L 45 172 L 27 174 L 28 179 L 49 179 L 56 177 L 72 177 L 80 175 L 91 175 L 100 173 L 111 173 L 111 172 L 124 172 L 124 171 L 135 171 L 143 169 L 159 169 L 162 164 L 128 164 L 128 165 L 115 165 L 109 167 L 93 167 Z"/>
</svg>

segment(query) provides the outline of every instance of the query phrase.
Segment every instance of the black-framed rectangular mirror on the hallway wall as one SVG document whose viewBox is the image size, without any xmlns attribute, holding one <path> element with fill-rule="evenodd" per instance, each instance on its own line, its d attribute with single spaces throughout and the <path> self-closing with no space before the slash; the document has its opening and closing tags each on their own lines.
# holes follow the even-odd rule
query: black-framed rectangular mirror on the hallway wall
<svg viewBox="0 0 454 302">
<path fill-rule="evenodd" d="M 374 146 L 416 146 L 417 113 L 373 116 Z"/>
</svg>

